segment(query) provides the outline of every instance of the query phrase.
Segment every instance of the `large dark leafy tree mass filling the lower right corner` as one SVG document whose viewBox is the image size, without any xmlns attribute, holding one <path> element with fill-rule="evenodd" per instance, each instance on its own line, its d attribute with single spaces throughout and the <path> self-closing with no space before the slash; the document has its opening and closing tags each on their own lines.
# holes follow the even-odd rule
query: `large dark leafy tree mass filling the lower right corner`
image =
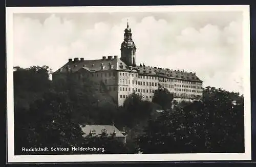
<svg viewBox="0 0 256 167">
<path fill-rule="evenodd" d="M 202 101 L 163 112 L 138 138 L 143 153 L 244 152 L 243 96 L 208 87 Z M 236 99 L 237 104 L 232 101 Z"/>
</svg>

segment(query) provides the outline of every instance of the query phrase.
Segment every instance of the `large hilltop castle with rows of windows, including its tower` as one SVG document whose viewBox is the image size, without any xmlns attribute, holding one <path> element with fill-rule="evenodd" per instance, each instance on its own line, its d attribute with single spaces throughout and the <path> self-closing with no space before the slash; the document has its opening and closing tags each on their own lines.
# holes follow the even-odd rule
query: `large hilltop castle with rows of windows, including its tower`
<svg viewBox="0 0 256 167">
<path fill-rule="evenodd" d="M 136 64 L 136 45 L 128 23 L 120 50 L 120 59 L 117 55 L 103 56 L 98 60 L 69 59 L 52 77 L 73 73 L 80 79 L 101 82 L 118 105 L 122 105 L 133 92 L 151 101 L 159 84 L 173 93 L 178 102 L 202 98 L 203 81 L 196 73 Z"/>
</svg>

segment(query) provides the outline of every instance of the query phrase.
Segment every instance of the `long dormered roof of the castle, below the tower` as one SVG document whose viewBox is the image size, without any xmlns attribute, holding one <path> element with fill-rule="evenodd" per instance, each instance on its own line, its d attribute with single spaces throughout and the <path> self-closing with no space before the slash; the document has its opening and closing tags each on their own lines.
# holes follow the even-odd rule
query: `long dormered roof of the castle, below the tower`
<svg viewBox="0 0 256 167">
<path fill-rule="evenodd" d="M 104 69 L 102 69 L 102 66 L 104 66 Z M 112 66 L 112 68 L 110 68 Z M 78 58 L 75 58 L 73 61 L 69 61 L 64 66 L 59 68 L 54 73 L 65 73 L 68 70 L 71 72 L 76 72 L 80 69 L 86 69 L 88 71 L 100 71 L 100 70 L 132 70 L 136 71 L 140 74 L 152 74 L 152 75 L 161 75 L 165 77 L 172 77 L 172 78 L 181 78 L 181 79 L 187 79 L 187 80 L 196 80 L 201 81 L 196 73 L 193 72 L 186 72 L 184 70 L 170 70 L 170 69 L 164 69 L 164 68 L 156 68 L 156 67 L 150 67 L 150 66 L 136 66 L 136 67 L 128 67 L 124 62 L 122 62 L 120 59 L 115 57 L 111 57 L 111 59 L 108 59 L 108 57 L 105 57 L 105 59 L 99 59 L 99 60 L 78 60 Z"/>
</svg>

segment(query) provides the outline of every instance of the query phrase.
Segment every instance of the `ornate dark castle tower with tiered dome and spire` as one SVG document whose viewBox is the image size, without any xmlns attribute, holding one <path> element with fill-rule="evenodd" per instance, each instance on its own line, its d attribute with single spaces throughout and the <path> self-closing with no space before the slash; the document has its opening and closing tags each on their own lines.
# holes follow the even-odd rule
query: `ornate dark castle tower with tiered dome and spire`
<svg viewBox="0 0 256 167">
<path fill-rule="evenodd" d="M 127 21 L 127 27 L 124 30 L 124 40 L 121 44 L 121 61 L 123 61 L 127 66 L 136 66 L 136 46 L 132 39 L 131 29 L 129 28 L 129 23 Z"/>
</svg>

